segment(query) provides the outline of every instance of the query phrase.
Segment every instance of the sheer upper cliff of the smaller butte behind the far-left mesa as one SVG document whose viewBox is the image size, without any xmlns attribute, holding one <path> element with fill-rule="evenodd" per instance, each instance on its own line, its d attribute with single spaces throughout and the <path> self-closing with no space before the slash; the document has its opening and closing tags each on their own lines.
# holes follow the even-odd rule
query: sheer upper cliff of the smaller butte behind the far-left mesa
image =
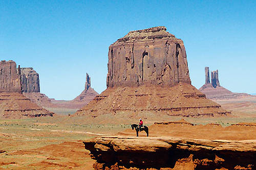
<svg viewBox="0 0 256 170">
<path fill-rule="evenodd" d="M 32 68 L 20 68 L 23 92 L 40 92 L 39 74 Z"/>
</svg>

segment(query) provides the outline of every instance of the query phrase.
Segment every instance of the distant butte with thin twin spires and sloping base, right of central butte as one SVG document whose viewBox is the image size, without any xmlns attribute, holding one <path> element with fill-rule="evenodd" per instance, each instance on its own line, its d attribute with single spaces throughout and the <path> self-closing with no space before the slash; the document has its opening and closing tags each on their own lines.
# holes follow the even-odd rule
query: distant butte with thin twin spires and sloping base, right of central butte
<svg viewBox="0 0 256 170">
<path fill-rule="evenodd" d="M 241 96 L 249 96 L 247 93 L 233 93 L 222 87 L 219 82 L 218 69 L 211 71 L 211 79 L 209 79 L 209 67 L 205 67 L 205 84 L 199 90 L 205 93 L 208 99 L 234 99 Z"/>
</svg>

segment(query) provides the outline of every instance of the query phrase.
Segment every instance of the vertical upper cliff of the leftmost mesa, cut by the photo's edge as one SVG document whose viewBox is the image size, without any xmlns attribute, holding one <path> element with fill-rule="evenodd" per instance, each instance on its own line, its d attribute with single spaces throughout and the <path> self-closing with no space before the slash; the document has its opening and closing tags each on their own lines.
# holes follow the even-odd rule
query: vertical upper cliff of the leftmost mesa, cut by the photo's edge
<svg viewBox="0 0 256 170">
<path fill-rule="evenodd" d="M 0 92 L 22 92 L 19 70 L 12 60 L 0 62 Z"/>
</svg>

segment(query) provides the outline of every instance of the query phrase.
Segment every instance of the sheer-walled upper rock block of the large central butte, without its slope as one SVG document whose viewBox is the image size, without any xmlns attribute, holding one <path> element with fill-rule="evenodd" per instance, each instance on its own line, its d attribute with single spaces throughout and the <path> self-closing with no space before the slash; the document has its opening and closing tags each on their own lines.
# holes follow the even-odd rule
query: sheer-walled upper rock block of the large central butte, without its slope
<svg viewBox="0 0 256 170">
<path fill-rule="evenodd" d="M 191 84 L 181 39 L 165 27 L 131 31 L 109 47 L 107 87 Z"/>
</svg>

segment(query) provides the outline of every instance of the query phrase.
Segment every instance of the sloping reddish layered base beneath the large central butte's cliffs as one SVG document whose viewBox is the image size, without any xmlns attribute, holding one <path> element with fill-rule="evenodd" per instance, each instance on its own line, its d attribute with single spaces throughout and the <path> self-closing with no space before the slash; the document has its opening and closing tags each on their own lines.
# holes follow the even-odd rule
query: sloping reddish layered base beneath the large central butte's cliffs
<svg viewBox="0 0 256 170">
<path fill-rule="evenodd" d="M 87 106 L 76 112 L 76 115 L 130 113 L 127 118 L 140 115 L 152 116 L 225 116 L 230 112 L 220 105 L 206 99 L 205 94 L 195 87 L 179 83 L 174 87 L 139 86 L 108 88 L 91 101 Z M 150 118 L 147 115 L 147 118 Z"/>
</svg>

